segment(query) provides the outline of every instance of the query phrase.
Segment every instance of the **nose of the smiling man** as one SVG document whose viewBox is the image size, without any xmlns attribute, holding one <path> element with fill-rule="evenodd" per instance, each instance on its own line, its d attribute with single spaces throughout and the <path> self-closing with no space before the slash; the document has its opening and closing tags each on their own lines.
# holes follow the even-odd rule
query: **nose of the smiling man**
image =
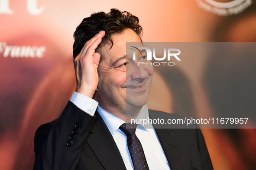
<svg viewBox="0 0 256 170">
<path fill-rule="evenodd" d="M 149 76 L 149 72 L 146 70 L 147 66 L 134 65 L 131 69 L 132 79 L 146 79 Z"/>
</svg>

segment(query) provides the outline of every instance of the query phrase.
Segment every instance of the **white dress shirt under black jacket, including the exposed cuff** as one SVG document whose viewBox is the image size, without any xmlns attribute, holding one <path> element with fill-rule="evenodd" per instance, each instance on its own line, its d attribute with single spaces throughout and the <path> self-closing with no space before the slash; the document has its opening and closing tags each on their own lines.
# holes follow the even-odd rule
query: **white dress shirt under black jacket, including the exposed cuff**
<svg viewBox="0 0 256 170">
<path fill-rule="evenodd" d="M 102 109 L 94 99 L 88 98 L 87 96 L 77 92 L 73 92 L 70 101 L 91 116 L 94 116 L 97 109 L 117 144 L 117 148 L 120 151 L 126 169 L 133 170 L 133 162 L 127 147 L 126 135 L 119 129 L 119 127 L 125 122 L 117 116 L 114 116 Z M 147 119 L 148 117 L 149 111 L 147 106 L 144 105 L 137 119 Z M 138 124 L 135 134 L 141 142 L 149 169 L 170 170 L 168 161 L 152 124 L 147 124 L 146 129 L 142 125 Z"/>
</svg>

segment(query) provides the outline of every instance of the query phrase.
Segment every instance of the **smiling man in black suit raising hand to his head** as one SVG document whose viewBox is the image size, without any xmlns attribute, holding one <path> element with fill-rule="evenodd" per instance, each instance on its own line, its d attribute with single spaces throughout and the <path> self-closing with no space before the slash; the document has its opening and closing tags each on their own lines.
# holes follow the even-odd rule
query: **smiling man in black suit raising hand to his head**
<svg viewBox="0 0 256 170">
<path fill-rule="evenodd" d="M 126 42 L 142 45 L 141 32 L 136 16 L 117 9 L 94 13 L 78 25 L 77 90 L 59 118 L 37 130 L 34 170 L 213 169 L 199 129 L 125 123 L 167 114 L 146 107 L 153 67 L 138 66 L 149 62 L 146 56 L 133 60 L 126 54 Z"/>
</svg>

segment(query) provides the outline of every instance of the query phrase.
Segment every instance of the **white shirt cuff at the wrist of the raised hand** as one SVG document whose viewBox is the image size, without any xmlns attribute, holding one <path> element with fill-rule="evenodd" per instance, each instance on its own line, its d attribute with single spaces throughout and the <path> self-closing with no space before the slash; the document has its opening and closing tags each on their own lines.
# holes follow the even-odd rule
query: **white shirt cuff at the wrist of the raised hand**
<svg viewBox="0 0 256 170">
<path fill-rule="evenodd" d="M 83 110 L 91 116 L 94 116 L 94 113 L 98 106 L 97 101 L 78 92 L 73 92 L 70 101 L 75 104 L 79 109 Z"/>
</svg>

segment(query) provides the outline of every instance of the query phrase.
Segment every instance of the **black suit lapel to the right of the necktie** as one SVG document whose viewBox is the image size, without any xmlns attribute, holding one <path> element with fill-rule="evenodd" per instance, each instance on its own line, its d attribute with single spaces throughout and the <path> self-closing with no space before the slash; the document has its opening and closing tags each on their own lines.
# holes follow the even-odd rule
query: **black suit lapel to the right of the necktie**
<svg viewBox="0 0 256 170">
<path fill-rule="evenodd" d="M 161 115 L 155 113 L 155 110 L 149 110 L 150 119 L 161 119 Z M 167 113 L 166 113 L 167 114 Z M 177 138 L 175 129 L 155 129 L 157 137 L 161 143 L 165 156 L 171 170 L 186 170 L 186 162 L 183 152 L 175 141 Z"/>
</svg>

